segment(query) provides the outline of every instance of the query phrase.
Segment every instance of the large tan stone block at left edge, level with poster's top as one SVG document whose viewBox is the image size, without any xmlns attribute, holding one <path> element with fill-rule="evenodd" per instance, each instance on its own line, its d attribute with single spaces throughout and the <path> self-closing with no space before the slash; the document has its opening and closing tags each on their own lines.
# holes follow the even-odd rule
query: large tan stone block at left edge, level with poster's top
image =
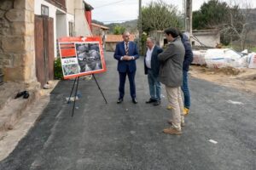
<svg viewBox="0 0 256 170">
<path fill-rule="evenodd" d="M 3 37 L 2 49 L 5 53 L 24 53 L 25 52 L 24 37 Z"/>
</svg>

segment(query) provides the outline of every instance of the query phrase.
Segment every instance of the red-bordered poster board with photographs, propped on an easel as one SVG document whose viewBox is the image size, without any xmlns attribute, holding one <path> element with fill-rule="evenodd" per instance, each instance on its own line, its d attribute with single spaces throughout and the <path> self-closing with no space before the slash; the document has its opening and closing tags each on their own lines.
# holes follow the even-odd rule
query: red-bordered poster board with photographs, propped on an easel
<svg viewBox="0 0 256 170">
<path fill-rule="evenodd" d="M 107 71 L 101 37 L 58 39 L 64 79 Z"/>
</svg>

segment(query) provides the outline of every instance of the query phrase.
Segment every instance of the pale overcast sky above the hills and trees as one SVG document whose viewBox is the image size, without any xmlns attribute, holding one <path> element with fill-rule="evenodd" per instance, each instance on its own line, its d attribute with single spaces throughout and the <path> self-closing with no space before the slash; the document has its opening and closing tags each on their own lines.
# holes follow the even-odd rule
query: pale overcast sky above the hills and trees
<svg viewBox="0 0 256 170">
<path fill-rule="evenodd" d="M 126 20 L 136 20 L 138 15 L 138 1 L 139 0 L 85 0 L 90 3 L 94 8 L 92 10 L 92 19 L 99 20 L 106 24 L 112 22 L 120 22 Z M 151 1 L 157 0 L 142 0 L 143 6 L 147 5 Z M 163 0 L 166 3 L 171 3 L 177 6 L 180 12 L 183 12 L 183 0 Z M 201 4 L 208 0 L 193 0 L 193 10 L 197 10 L 201 7 Z M 256 8 L 255 0 L 220 0 L 227 3 L 236 1 L 242 6 L 241 2 L 250 3 L 252 8 Z"/>
</svg>

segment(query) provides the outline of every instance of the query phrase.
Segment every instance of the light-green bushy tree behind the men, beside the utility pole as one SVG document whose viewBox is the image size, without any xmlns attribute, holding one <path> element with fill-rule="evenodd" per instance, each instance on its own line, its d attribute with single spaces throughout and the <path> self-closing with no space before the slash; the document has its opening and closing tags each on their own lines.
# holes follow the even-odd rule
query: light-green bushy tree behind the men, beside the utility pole
<svg viewBox="0 0 256 170">
<path fill-rule="evenodd" d="M 168 27 L 182 26 L 182 20 L 175 6 L 167 4 L 162 0 L 151 2 L 142 8 L 143 31 L 164 30 Z"/>
</svg>

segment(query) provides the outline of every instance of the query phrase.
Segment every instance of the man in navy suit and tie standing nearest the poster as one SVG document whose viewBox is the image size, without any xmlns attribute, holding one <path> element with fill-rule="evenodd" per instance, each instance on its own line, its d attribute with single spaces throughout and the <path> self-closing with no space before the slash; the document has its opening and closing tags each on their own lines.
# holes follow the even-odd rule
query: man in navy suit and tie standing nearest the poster
<svg viewBox="0 0 256 170">
<path fill-rule="evenodd" d="M 130 33 L 128 31 L 123 33 L 123 39 L 123 42 L 117 43 L 113 54 L 114 59 L 118 60 L 117 70 L 119 71 L 119 99 L 117 103 L 123 102 L 125 95 L 125 79 L 126 75 L 128 75 L 131 99 L 134 104 L 137 104 L 134 77 L 137 69 L 136 59 L 139 58 L 139 54 L 136 43 L 129 41 Z"/>
</svg>

